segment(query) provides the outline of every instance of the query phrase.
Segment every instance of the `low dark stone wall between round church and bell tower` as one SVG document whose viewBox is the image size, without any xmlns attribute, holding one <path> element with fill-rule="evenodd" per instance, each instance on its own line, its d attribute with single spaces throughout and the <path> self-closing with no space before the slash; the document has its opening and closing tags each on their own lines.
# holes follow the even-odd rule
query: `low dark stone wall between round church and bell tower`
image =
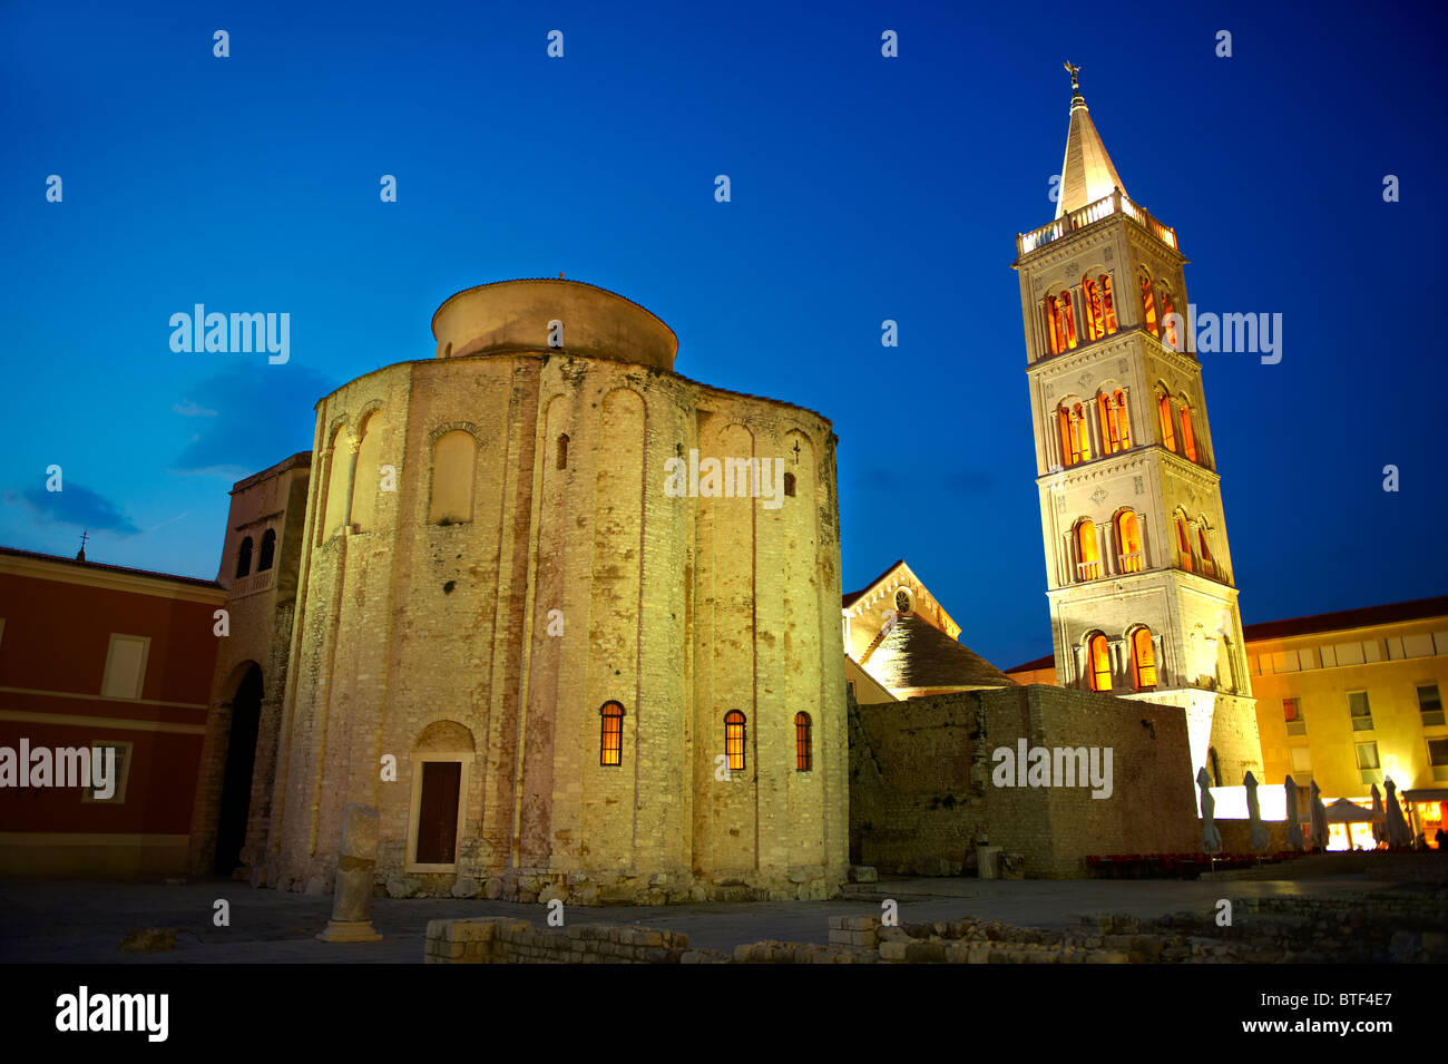
<svg viewBox="0 0 1448 1064">
<path fill-rule="evenodd" d="M 1109 747 L 1112 793 L 995 786 L 998 747 Z M 1085 876 L 1090 854 L 1195 853 L 1197 819 L 1180 709 L 1045 685 L 850 709 L 850 841 L 859 864 L 973 873 L 976 847 L 1025 876 Z"/>
</svg>

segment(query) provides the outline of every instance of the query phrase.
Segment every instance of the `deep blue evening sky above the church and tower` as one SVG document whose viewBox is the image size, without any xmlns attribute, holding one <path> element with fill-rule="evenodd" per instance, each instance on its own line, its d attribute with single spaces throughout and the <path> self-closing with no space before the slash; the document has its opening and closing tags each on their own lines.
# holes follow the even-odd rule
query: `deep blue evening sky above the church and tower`
<svg viewBox="0 0 1448 1064">
<path fill-rule="evenodd" d="M 453 292 L 562 271 L 686 376 L 834 421 L 847 591 L 905 557 L 975 650 L 1047 653 L 1009 262 L 1070 58 L 1192 301 L 1284 316 L 1280 365 L 1202 356 L 1244 620 L 1442 594 L 1445 51 L 1426 4 L 12 0 L 0 544 L 84 524 L 93 560 L 214 576 L 227 489 L 317 398 L 429 358 Z M 195 303 L 290 313 L 291 360 L 172 353 Z"/>
</svg>

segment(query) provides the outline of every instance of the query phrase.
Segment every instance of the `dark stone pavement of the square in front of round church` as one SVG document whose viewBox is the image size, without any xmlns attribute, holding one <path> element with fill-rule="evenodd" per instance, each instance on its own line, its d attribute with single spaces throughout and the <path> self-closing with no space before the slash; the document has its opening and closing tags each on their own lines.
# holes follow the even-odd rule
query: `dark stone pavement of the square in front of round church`
<svg viewBox="0 0 1448 1064">
<path fill-rule="evenodd" d="M 643 924 L 683 931 L 691 945 L 733 950 L 740 942 L 827 942 L 830 916 L 877 916 L 880 899 L 899 902 L 901 921 L 980 916 L 1025 926 L 1061 926 L 1077 913 L 1160 916 L 1211 913 L 1219 898 L 1331 895 L 1409 889 L 1361 876 L 1302 882 L 1190 880 L 975 880 L 899 879 L 850 887 L 835 902 L 737 902 L 669 906 L 568 906 L 575 924 Z M 217 899 L 230 903 L 230 926 L 211 924 Z M 4 963 L 421 963 L 427 921 L 517 916 L 543 926 L 543 905 L 378 898 L 372 918 L 381 942 L 323 944 L 330 896 L 256 890 L 240 882 L 198 879 L 181 884 L 96 880 L 0 880 L 0 961 Z M 129 954 L 129 931 L 177 928 L 177 948 Z"/>
</svg>

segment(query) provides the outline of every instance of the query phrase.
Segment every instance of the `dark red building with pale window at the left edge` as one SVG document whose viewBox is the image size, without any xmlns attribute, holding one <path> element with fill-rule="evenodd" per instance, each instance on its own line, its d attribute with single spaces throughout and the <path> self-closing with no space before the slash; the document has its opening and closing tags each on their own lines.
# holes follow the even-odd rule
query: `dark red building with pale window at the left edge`
<svg viewBox="0 0 1448 1064">
<path fill-rule="evenodd" d="M 0 788 L 0 874 L 187 871 L 224 602 L 216 580 L 0 547 L 0 756 L 116 748 L 110 798 Z"/>
</svg>

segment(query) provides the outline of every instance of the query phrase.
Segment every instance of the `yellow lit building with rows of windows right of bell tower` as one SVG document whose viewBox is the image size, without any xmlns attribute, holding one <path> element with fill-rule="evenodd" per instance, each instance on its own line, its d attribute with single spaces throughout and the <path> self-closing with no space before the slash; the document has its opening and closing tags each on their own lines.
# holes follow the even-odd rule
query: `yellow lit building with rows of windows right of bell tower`
<svg viewBox="0 0 1448 1064">
<path fill-rule="evenodd" d="M 1290 774 L 1323 802 L 1371 806 L 1392 779 L 1413 834 L 1448 831 L 1448 596 L 1250 624 L 1247 666 L 1257 696 L 1261 783 Z M 1008 670 L 1054 683 L 1053 657 Z M 1213 780 L 1221 766 L 1208 753 Z M 1306 793 L 1303 793 L 1303 799 Z M 1299 803 L 1306 808 L 1306 801 Z M 1371 828 L 1332 825 L 1329 847 L 1371 845 Z"/>
</svg>

